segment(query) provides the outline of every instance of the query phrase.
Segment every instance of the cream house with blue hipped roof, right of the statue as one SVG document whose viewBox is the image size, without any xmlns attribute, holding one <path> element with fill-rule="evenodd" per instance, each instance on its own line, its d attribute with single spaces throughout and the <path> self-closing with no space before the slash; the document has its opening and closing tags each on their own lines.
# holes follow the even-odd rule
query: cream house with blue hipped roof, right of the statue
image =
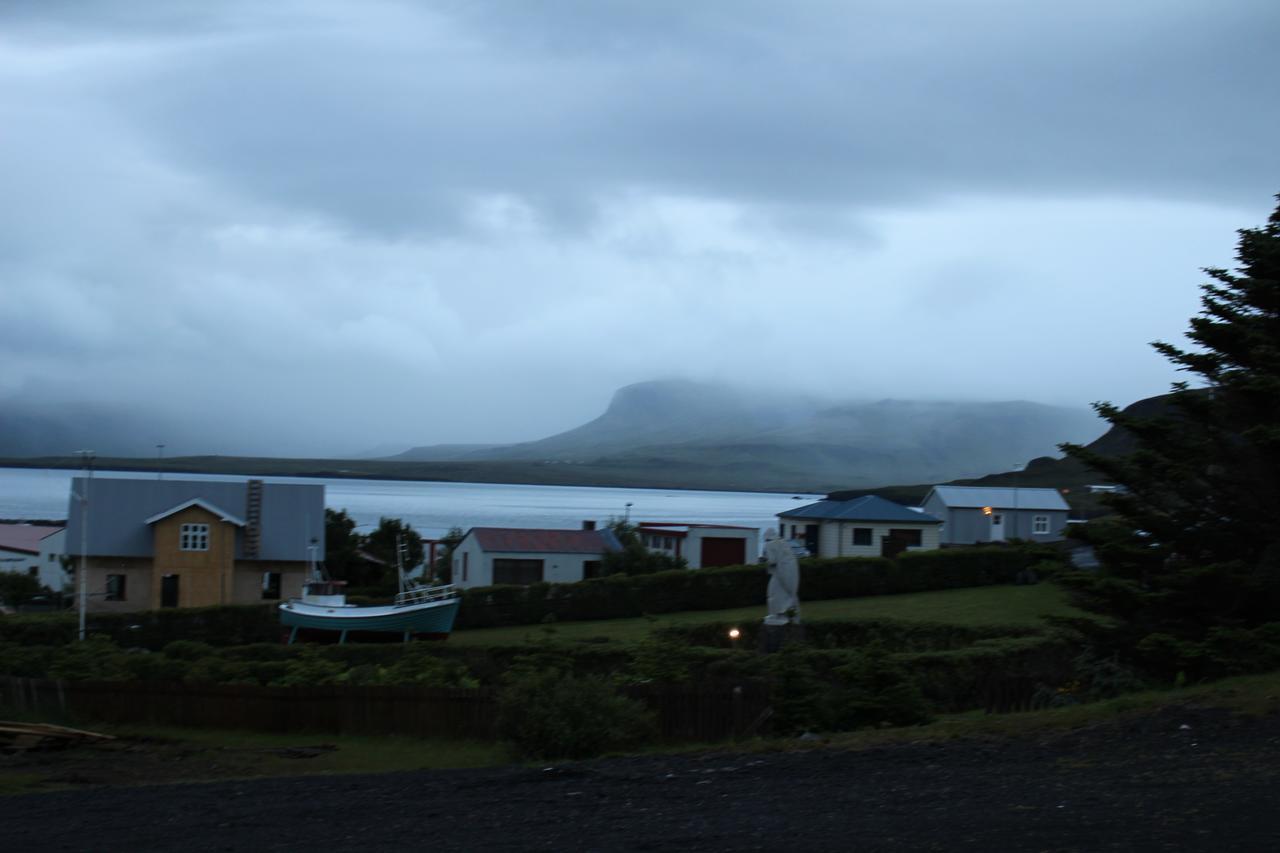
<svg viewBox="0 0 1280 853">
<path fill-rule="evenodd" d="M 938 547 L 940 519 L 864 494 L 851 501 L 818 501 L 778 512 L 783 539 L 804 542 L 815 557 L 893 557 Z"/>
</svg>

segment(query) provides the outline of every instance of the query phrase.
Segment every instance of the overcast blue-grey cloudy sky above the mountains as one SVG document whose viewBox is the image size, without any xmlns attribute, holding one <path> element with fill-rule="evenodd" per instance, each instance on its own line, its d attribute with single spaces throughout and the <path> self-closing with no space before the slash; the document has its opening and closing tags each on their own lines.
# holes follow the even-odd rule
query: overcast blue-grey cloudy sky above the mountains
<svg viewBox="0 0 1280 853">
<path fill-rule="evenodd" d="M 1280 191 L 1277 36 L 1274 0 L 5 0 L 0 406 L 284 455 L 669 377 L 1128 403 Z"/>
</svg>

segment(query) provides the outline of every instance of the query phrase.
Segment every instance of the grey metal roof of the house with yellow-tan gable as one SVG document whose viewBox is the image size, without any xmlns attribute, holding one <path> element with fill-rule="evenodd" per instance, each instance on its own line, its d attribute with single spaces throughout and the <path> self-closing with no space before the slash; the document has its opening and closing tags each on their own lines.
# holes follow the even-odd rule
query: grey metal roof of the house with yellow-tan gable
<svg viewBox="0 0 1280 853">
<path fill-rule="evenodd" d="M 72 479 L 67 507 L 67 552 L 81 552 L 81 502 L 84 478 Z M 88 553 L 97 557 L 150 557 L 148 519 L 192 501 L 244 519 L 248 480 L 159 480 L 155 478 L 95 476 L 88 489 Z M 243 560 L 243 537 L 237 535 L 236 558 Z M 307 558 L 316 539 L 316 560 L 324 560 L 324 485 L 264 483 L 259 560 Z"/>
</svg>

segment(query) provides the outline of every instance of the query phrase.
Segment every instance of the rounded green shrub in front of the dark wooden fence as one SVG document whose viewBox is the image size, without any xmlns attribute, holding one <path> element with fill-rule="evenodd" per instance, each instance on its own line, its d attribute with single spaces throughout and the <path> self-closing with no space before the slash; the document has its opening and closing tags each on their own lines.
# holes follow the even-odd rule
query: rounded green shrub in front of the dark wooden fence
<svg viewBox="0 0 1280 853">
<path fill-rule="evenodd" d="M 590 758 L 646 743 L 655 726 L 607 679 L 521 667 L 498 693 L 498 734 L 524 758 Z"/>
</svg>

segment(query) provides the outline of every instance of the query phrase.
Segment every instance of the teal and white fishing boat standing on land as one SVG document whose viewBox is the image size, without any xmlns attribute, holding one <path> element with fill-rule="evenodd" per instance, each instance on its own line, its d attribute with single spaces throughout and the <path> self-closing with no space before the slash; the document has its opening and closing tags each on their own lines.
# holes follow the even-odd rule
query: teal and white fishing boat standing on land
<svg viewBox="0 0 1280 853">
<path fill-rule="evenodd" d="M 399 562 L 399 561 L 397 561 Z M 348 605 L 346 583 L 324 576 L 312 565 L 310 579 L 302 585 L 302 598 L 280 605 L 280 624 L 289 629 L 289 643 L 300 631 L 330 631 L 346 643 L 353 633 L 401 634 L 407 643 L 413 637 L 444 638 L 453 630 L 458 613 L 457 589 L 453 584 L 439 587 L 410 585 L 398 565 L 401 592 L 390 605 Z"/>
</svg>

